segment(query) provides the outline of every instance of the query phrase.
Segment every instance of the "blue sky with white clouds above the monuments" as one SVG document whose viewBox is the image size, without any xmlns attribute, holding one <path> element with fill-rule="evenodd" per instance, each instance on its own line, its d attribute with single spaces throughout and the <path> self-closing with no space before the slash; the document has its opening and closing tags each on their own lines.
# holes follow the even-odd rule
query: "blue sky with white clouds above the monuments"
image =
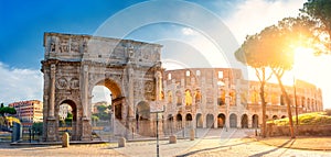
<svg viewBox="0 0 331 157">
<path fill-rule="evenodd" d="M 162 44 L 167 69 L 237 67 L 242 65 L 232 54 L 246 35 L 296 16 L 305 1 L 0 1 L 0 102 L 42 100 L 44 32 Z M 299 55 L 295 70 L 285 77 L 292 80 L 295 74 L 316 83 L 323 91 L 324 108 L 331 108 L 328 60 L 330 56 Z M 256 79 L 247 71 L 248 79 Z"/>
</svg>

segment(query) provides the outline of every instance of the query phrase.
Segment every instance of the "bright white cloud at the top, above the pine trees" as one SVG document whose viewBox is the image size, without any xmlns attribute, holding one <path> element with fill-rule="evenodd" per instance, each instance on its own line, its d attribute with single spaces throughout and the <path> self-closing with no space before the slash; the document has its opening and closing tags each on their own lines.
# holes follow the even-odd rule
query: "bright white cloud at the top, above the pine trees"
<svg viewBox="0 0 331 157">
<path fill-rule="evenodd" d="M 239 43 L 246 35 L 259 33 L 266 26 L 276 24 L 284 18 L 297 16 L 306 0 L 246 0 L 237 3 L 236 11 L 224 22 Z"/>
</svg>

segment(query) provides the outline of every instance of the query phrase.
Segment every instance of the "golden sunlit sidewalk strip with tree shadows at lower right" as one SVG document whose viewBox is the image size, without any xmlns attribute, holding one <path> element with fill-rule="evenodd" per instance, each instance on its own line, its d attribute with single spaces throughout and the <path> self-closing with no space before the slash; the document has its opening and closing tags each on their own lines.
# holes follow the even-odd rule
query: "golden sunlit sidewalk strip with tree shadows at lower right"
<svg viewBox="0 0 331 157">
<path fill-rule="evenodd" d="M 290 139 L 289 136 L 281 137 L 255 137 L 258 142 L 282 148 L 291 149 L 307 149 L 307 150 L 331 150 L 331 137 L 307 137 L 307 136 L 297 136 L 295 139 Z"/>
</svg>

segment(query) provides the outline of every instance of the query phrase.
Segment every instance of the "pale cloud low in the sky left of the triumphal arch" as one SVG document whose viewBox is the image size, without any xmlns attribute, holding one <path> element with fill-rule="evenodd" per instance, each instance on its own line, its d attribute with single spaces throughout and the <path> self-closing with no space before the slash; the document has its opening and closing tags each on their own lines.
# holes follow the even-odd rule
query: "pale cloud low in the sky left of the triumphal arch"
<svg viewBox="0 0 331 157">
<path fill-rule="evenodd" d="M 0 102 L 42 101 L 43 76 L 40 70 L 11 68 L 0 63 Z"/>
</svg>

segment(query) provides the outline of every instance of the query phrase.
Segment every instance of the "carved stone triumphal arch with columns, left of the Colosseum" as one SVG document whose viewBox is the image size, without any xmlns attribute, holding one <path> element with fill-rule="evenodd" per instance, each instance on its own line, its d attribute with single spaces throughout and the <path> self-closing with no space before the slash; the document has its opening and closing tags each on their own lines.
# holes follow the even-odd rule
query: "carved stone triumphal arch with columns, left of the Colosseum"
<svg viewBox="0 0 331 157">
<path fill-rule="evenodd" d="M 92 141 L 92 90 L 96 85 L 111 91 L 115 117 L 127 128 L 138 125 L 139 105 L 159 100 L 161 45 L 45 33 L 44 48 L 44 141 L 60 141 L 58 110 L 63 103 L 73 109 L 72 139 Z"/>
</svg>

